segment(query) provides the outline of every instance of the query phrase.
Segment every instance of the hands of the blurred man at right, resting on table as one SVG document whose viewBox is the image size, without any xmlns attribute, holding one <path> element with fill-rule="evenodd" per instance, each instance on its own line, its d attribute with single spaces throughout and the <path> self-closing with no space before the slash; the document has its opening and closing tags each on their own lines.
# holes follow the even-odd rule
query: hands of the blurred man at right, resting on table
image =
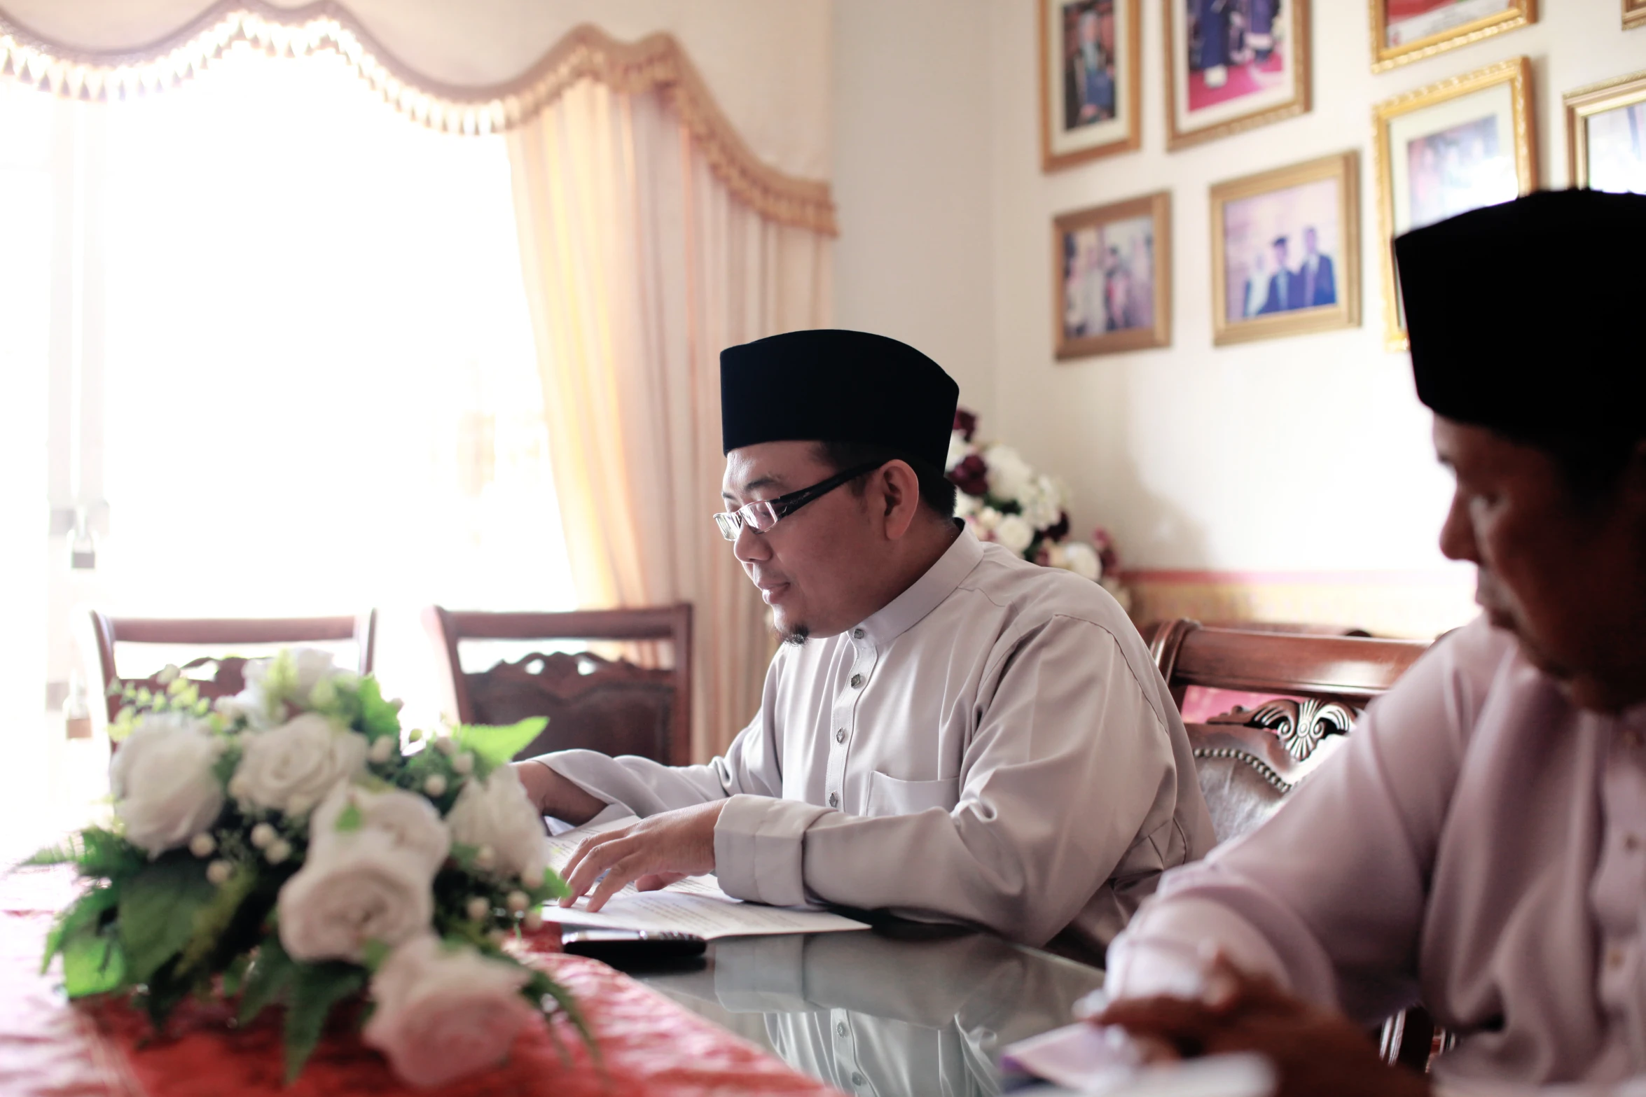
<svg viewBox="0 0 1646 1097">
<path fill-rule="evenodd" d="M 1353 1021 L 1295 998 L 1218 956 L 1202 998 L 1123 998 L 1091 1018 L 1119 1025 L 1155 1056 L 1256 1051 L 1281 1076 L 1276 1097 L 1425 1097 L 1429 1082 L 1391 1067 Z"/>
</svg>

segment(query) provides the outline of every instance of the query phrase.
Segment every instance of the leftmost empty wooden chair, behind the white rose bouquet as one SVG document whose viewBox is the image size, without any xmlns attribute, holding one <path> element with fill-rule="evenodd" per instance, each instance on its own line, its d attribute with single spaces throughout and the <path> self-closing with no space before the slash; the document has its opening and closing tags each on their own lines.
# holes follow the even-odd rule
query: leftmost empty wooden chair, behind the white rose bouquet
<svg viewBox="0 0 1646 1097">
<path fill-rule="evenodd" d="M 237 645 L 267 643 L 324 643 L 352 640 L 359 648 L 359 671 L 372 673 L 377 646 L 377 610 L 359 617 L 265 617 L 265 618 L 181 618 L 181 617 L 109 617 L 92 610 L 92 638 L 97 645 L 97 663 L 102 671 L 104 692 L 109 702 L 109 719 L 120 712 L 119 683 L 161 687 L 153 678 L 120 678 L 115 673 L 115 643 L 166 643 L 179 646 L 227 648 Z M 201 679 L 202 697 L 229 697 L 245 689 L 245 660 L 237 655 L 206 655 L 189 660 L 183 671 L 211 666 L 212 676 Z"/>
</svg>

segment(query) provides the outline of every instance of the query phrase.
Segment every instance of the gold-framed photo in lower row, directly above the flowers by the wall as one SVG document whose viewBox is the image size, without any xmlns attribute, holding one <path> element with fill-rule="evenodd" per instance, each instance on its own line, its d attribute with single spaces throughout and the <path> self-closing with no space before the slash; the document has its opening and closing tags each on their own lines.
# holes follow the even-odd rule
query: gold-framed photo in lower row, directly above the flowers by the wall
<svg viewBox="0 0 1646 1097">
<path fill-rule="evenodd" d="M 1058 359 L 1172 345 L 1172 194 L 1052 222 L 1052 334 Z"/>
</svg>

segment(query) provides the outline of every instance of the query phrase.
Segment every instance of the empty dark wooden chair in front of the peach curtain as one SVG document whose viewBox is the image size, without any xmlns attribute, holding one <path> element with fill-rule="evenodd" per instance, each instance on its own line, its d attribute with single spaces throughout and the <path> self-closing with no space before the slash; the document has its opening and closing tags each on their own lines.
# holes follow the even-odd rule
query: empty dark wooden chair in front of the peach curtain
<svg viewBox="0 0 1646 1097">
<path fill-rule="evenodd" d="M 514 724 L 546 715 L 548 727 L 517 757 L 586 748 L 640 755 L 665 765 L 691 760 L 691 605 L 573 613 L 477 613 L 431 605 L 423 625 L 439 653 L 446 709 L 459 724 Z M 463 640 L 667 640 L 675 664 L 649 669 L 591 653 L 533 651 L 466 673 Z"/>
</svg>

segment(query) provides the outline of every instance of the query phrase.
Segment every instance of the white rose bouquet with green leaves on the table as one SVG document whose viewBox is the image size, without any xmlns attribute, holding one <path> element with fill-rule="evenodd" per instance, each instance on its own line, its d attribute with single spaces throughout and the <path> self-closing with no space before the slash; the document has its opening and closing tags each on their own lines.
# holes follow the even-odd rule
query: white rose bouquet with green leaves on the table
<svg viewBox="0 0 1646 1097">
<path fill-rule="evenodd" d="M 216 704 L 174 668 L 161 692 L 127 686 L 115 824 L 26 862 L 89 880 L 46 942 L 69 997 L 130 995 L 156 1028 L 191 993 L 239 997 L 242 1025 L 285 1005 L 288 1081 L 362 995 L 365 1043 L 413 1085 L 499 1062 L 537 1016 L 588 1039 L 566 990 L 500 947 L 565 893 L 507 765 L 545 722 L 403 747 L 398 702 L 321 651 L 245 678 Z"/>
</svg>

